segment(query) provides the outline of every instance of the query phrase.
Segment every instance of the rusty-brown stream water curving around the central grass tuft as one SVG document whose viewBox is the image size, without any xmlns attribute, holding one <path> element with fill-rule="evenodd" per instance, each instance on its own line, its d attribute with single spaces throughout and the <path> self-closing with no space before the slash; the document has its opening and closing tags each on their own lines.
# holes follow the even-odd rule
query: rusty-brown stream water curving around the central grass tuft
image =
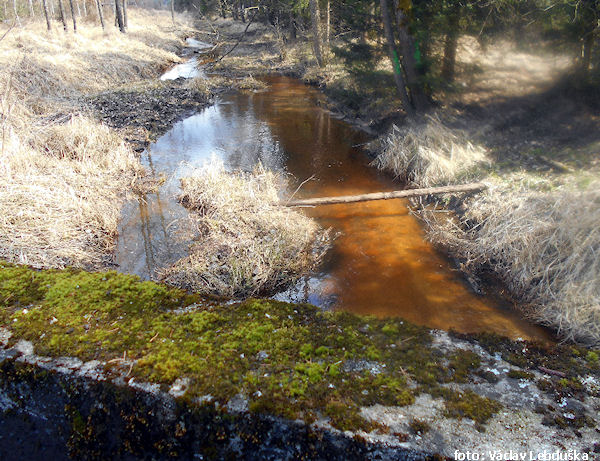
<svg viewBox="0 0 600 461">
<path fill-rule="evenodd" d="M 177 123 L 143 154 L 152 172 L 168 179 L 158 193 L 125 207 L 117 250 L 120 270 L 148 279 L 156 268 L 185 254 L 189 241 L 173 235 L 177 220 L 186 216 L 175 199 L 179 179 L 211 156 L 230 170 L 251 170 L 262 162 L 290 175 L 291 190 L 314 175 L 297 197 L 400 188 L 368 166 L 357 146 L 366 136 L 321 109 L 318 91 L 286 77 L 267 80 L 266 91 L 225 95 Z M 341 235 L 320 273 L 276 299 L 399 316 L 432 328 L 548 338 L 544 329 L 521 319 L 499 297 L 473 293 L 451 262 L 426 242 L 405 201 L 303 211 Z"/>
</svg>

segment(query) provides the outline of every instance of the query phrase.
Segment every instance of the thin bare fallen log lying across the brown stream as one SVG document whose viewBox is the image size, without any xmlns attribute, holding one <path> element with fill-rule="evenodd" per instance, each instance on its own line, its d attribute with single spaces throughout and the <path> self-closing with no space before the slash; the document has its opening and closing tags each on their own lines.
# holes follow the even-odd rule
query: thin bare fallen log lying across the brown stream
<svg viewBox="0 0 600 461">
<path fill-rule="evenodd" d="M 333 205 L 335 203 L 367 202 L 370 200 L 389 200 L 394 198 L 418 197 L 435 194 L 455 194 L 459 192 L 479 192 L 486 189 L 484 183 L 459 184 L 454 186 L 426 187 L 423 189 L 405 189 L 390 192 L 373 192 L 371 194 L 341 195 L 338 197 L 319 197 L 282 202 L 284 206 Z"/>
</svg>

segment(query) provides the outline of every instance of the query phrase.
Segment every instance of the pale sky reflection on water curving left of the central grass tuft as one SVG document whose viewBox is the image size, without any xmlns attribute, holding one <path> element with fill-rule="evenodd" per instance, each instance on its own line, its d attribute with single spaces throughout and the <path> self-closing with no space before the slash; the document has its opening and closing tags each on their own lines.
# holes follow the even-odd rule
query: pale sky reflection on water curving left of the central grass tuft
<svg viewBox="0 0 600 461">
<path fill-rule="evenodd" d="M 193 233 L 177 202 L 180 179 L 213 157 L 229 171 L 250 171 L 258 163 L 284 170 L 279 143 L 251 106 L 238 111 L 231 104 L 215 104 L 176 123 L 142 154 L 144 166 L 166 181 L 157 193 L 125 205 L 117 244 L 120 270 L 149 279 L 155 269 L 185 256 Z"/>
</svg>

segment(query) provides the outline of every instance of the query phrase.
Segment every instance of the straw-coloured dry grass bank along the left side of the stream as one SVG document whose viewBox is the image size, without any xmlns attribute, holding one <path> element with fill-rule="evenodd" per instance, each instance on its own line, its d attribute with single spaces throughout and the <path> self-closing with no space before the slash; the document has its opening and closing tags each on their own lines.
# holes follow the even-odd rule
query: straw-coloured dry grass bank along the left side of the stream
<svg viewBox="0 0 600 461">
<path fill-rule="evenodd" d="M 41 22 L 0 41 L 0 257 L 36 267 L 100 267 L 110 259 L 124 193 L 140 166 L 83 99 L 154 78 L 186 30 L 166 12 L 131 10 L 127 34 Z"/>
</svg>

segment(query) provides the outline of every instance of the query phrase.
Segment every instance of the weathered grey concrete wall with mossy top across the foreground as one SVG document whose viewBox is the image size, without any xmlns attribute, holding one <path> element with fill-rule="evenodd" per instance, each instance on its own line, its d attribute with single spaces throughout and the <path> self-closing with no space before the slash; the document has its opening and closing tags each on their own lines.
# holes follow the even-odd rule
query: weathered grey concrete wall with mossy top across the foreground
<svg viewBox="0 0 600 461">
<path fill-rule="evenodd" d="M 122 386 L 111 387 L 111 397 L 103 399 L 122 405 L 111 415 L 133 418 L 140 428 L 140 418 L 148 427 L 154 419 L 139 416 L 145 404 L 131 389 L 170 395 L 186 418 L 209 408 L 210 418 L 217 419 L 299 420 L 312 425 L 303 426 L 307 434 L 315 428 L 331 437 L 350 431 L 365 447 L 385 441 L 426 452 L 430 437 L 429 447 L 445 453 L 458 443 L 448 424 L 464 426 L 472 443 L 494 440 L 499 421 L 519 412 L 527 412 L 532 427 L 523 430 L 535 425 L 539 443 L 545 443 L 544 431 L 554 431 L 592 449 L 589 440 L 597 431 L 598 353 L 568 345 L 449 336 L 401 319 L 271 300 L 205 300 L 115 272 L 38 271 L 7 263 L 0 263 L 0 325 L 4 351 L 20 355 L 17 360 L 38 367 L 51 361 L 49 368 L 59 372 L 83 367 L 87 380 Z M 0 373 L 5 389 L 17 389 L 19 376 L 29 383 L 26 389 L 44 382 L 45 375 L 33 369 L 19 375 L 13 361 Z M 77 428 L 65 437 L 78 442 L 82 453 L 93 451 L 85 434 L 102 430 L 113 434 L 108 439 L 121 437 L 125 424 L 83 403 L 95 385 L 78 390 L 75 403 L 70 391 L 64 397 L 68 422 L 60 424 Z M 416 411 L 425 398 L 435 404 Z M 394 409 L 396 419 L 388 418 L 388 410 L 385 415 L 373 410 L 378 408 Z M 156 440 L 183 430 L 173 424 Z M 444 444 L 433 443 L 438 435 Z M 239 438 L 233 432 L 222 437 L 228 443 Z"/>
</svg>

